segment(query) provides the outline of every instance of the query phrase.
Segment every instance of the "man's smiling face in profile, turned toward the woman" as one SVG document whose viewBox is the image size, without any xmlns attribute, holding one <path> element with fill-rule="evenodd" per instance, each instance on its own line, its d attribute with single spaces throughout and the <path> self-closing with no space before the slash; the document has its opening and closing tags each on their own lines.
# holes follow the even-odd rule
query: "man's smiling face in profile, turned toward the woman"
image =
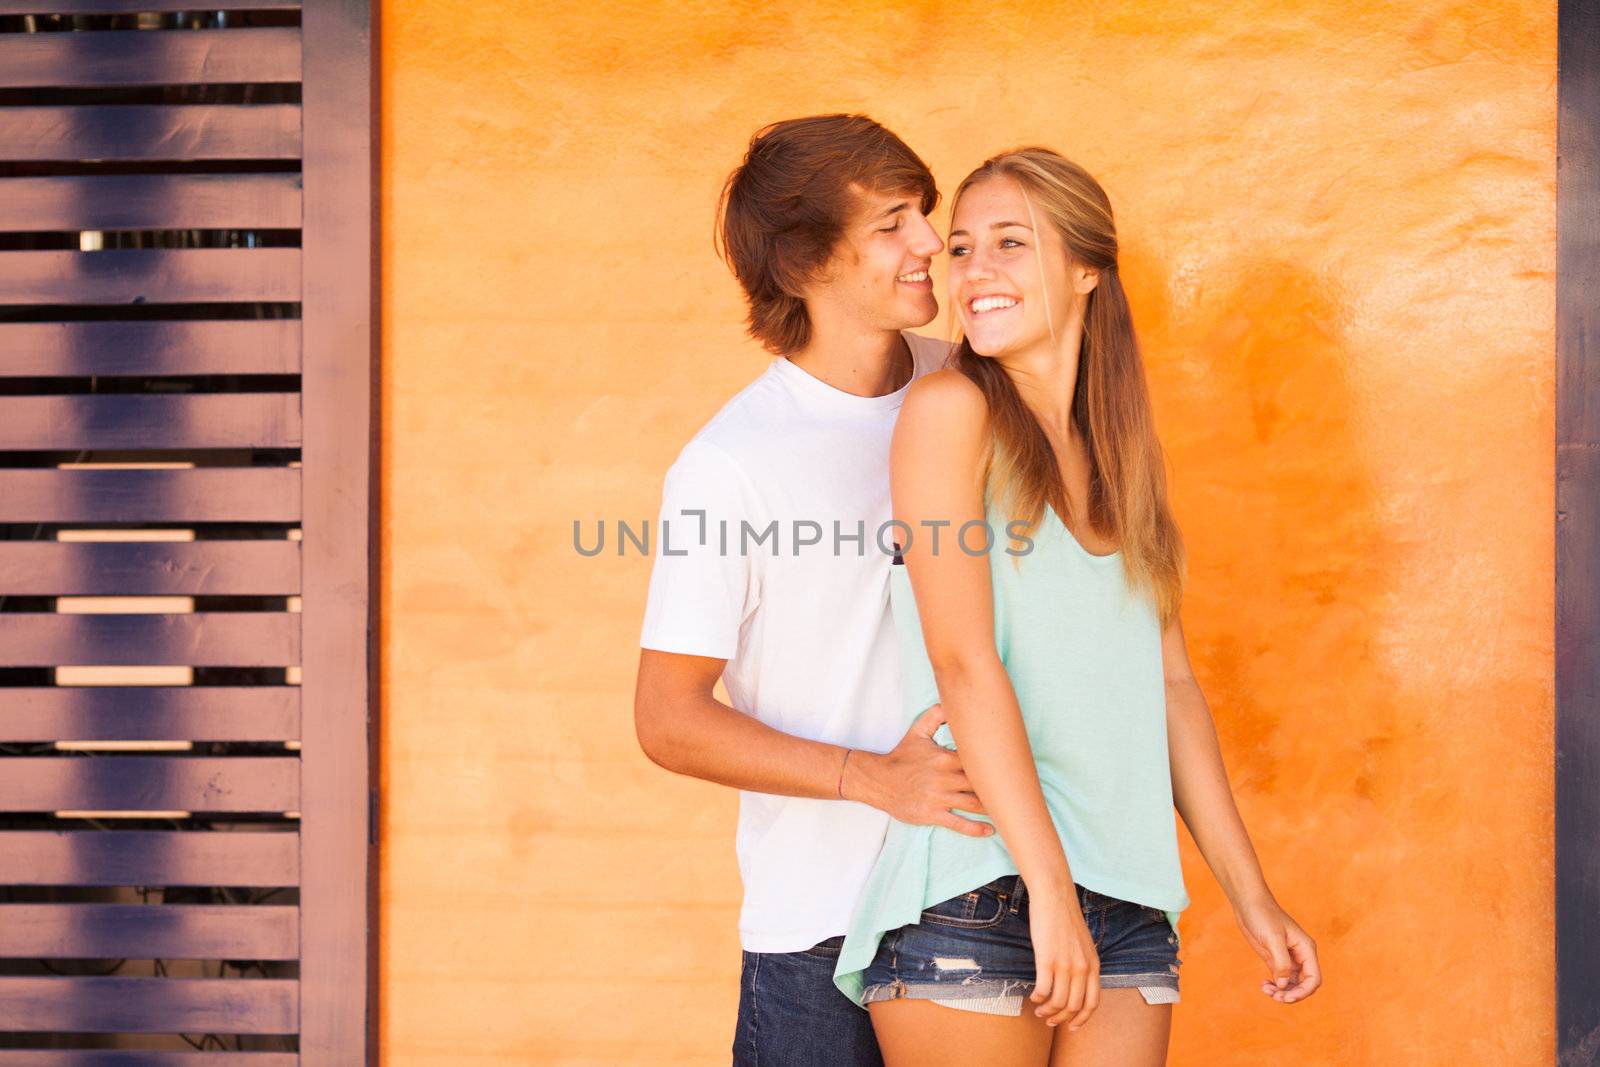
<svg viewBox="0 0 1600 1067">
<path fill-rule="evenodd" d="M 928 325 L 939 314 L 928 267 L 944 242 L 915 194 L 854 192 L 856 210 L 806 302 L 864 330 Z"/>
</svg>

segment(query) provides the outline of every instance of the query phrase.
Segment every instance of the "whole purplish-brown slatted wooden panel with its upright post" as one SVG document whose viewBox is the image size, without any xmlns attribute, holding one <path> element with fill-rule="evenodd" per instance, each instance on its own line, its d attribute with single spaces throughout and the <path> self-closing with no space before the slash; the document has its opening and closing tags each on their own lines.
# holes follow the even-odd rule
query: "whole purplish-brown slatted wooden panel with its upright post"
<svg viewBox="0 0 1600 1067">
<path fill-rule="evenodd" d="M 40 8 L 46 10 L 42 11 Z M 218 0 L 198 11 L 294 10 L 296 0 Z M 0 0 L 0 13 L 197 11 L 187 0 Z M 186 1032 L 294 1035 L 301 1053 L 198 1054 L 157 1049 L 0 1049 L 0 1067 L 82 1064 L 198 1067 L 213 1061 L 358 1064 L 366 1061 L 374 1017 L 362 1003 L 371 974 L 363 902 L 368 886 L 368 755 L 365 731 L 366 499 L 370 325 L 373 246 L 366 221 L 346 218 L 370 205 L 371 149 L 370 8 L 322 8 L 298 27 L 205 30 L 94 29 L 0 35 L 0 88 L 294 83 L 307 58 L 322 74 L 317 120 L 298 104 L 109 104 L 104 93 L 48 96 L 0 106 L 0 160 L 96 163 L 93 174 L 0 179 L 0 232 L 40 230 L 298 230 L 322 235 L 315 293 L 323 309 L 315 370 L 323 419 L 317 461 L 317 536 L 312 558 L 322 603 L 312 632 L 326 662 L 315 670 L 320 753 L 320 827 L 301 832 L 120 830 L 0 832 L 0 883 L 46 889 L 50 902 L 0 910 L 0 957 L 126 957 L 298 960 L 299 981 L 187 981 L 168 977 L 0 979 L 0 1032 Z M 202 14 L 202 18 L 205 18 Z M 230 19 L 232 21 L 232 19 Z M 43 26 L 54 26 L 45 21 Z M 368 62 L 362 62 L 365 58 Z M 93 96 L 78 106 L 59 101 Z M 275 99 L 285 94 L 277 93 Z M 150 94 L 128 99 L 150 99 Z M 232 91 L 208 99 L 237 99 Z M 302 146 L 302 126 L 306 144 Z M 363 147 L 365 146 L 365 147 Z M 306 198 L 299 174 L 117 174 L 118 162 L 299 162 L 318 197 Z M 312 152 L 310 149 L 315 149 Z M 38 168 L 46 170 L 46 168 Z M 67 168 L 59 168 L 67 170 Z M 88 168 L 74 168 L 88 170 Z M 165 170 L 133 166 L 123 170 Z M 186 168 L 187 170 L 187 168 Z M 202 170 L 198 166 L 192 170 Z M 221 168 L 211 168 L 221 170 Z M 278 166 L 262 170 L 278 171 Z M 315 208 L 307 211 L 307 206 Z M 205 242 L 213 240 L 205 237 Z M 163 238 L 165 242 L 165 238 Z M 61 245 L 59 237 L 42 243 Z M 107 245 L 118 240 L 107 238 Z M 176 243 L 176 242 L 174 242 Z M 195 322 L 197 304 L 299 304 L 302 254 L 280 237 L 261 248 L 141 248 L 0 251 L 0 304 L 16 309 L 86 307 L 54 318 L 93 318 L 117 306 L 141 306 L 138 318 L 170 322 L 0 322 L 0 451 L 141 453 L 189 450 L 299 450 L 298 394 L 240 394 L 261 384 L 237 374 L 299 374 L 293 320 Z M 338 246 L 349 245 L 344 251 Z M 354 245 L 362 245 L 355 248 Z M 171 306 L 171 307 L 170 307 Z M 189 306 L 189 307 L 178 307 Z M 360 310 L 352 310 L 360 309 Z M 5 309 L 0 309 L 5 310 Z M 218 309 L 219 312 L 224 309 Z M 259 309 L 262 315 L 283 307 Z M 301 309 L 291 307 L 298 315 Z M 48 314 L 48 312 L 46 312 Z M 235 315 L 235 309 L 226 309 Z M 0 318 L 43 317 L 37 312 Z M 373 349 L 373 350 L 370 350 Z M 350 355 L 350 354 L 358 355 Z M 354 358 L 354 363 L 350 362 Z M 184 392 L 155 394 L 138 382 L 85 389 L 72 378 L 192 376 Z M 19 381 L 45 379 L 45 381 Z M 275 389 L 294 389 L 274 382 Z M 152 390 L 154 392 L 154 390 Z M 334 429 L 334 427 L 330 427 Z M 115 459 L 115 456 L 86 456 Z M 155 454 L 152 459 L 163 459 Z M 42 456 L 43 459 L 43 456 Z M 197 458 L 250 464 L 242 456 Z M 277 462 L 258 456 L 256 461 Z M 11 462 L 18 462 L 13 458 Z M 22 462 L 32 462 L 24 459 Z M 160 525 L 301 522 L 299 470 L 203 467 L 195 470 L 37 470 L 0 467 L 0 522 L 21 541 L 0 542 L 0 597 L 58 595 L 294 595 L 301 549 L 286 541 L 53 542 L 42 528 L 62 525 Z M 27 526 L 34 526 L 32 534 Z M 38 537 L 38 541 L 34 541 Z M 13 605 L 29 608 L 32 605 Z M 365 619 L 370 624 L 370 617 Z M 0 613 L 0 665 L 299 665 L 302 619 L 291 613 L 197 613 L 170 616 Z M 26 661 L 26 662 L 24 662 Z M 312 672 L 307 670 L 310 675 Z M 125 678 L 123 681 L 131 680 Z M 354 685 L 352 685 L 354 683 Z M 298 686 L 30 686 L 0 701 L 0 739 L 51 741 L 288 741 L 299 739 L 304 693 Z M 357 744 L 352 747 L 352 741 Z M 312 747 L 312 745 L 307 745 Z M 354 761 L 354 763 L 352 763 Z M 299 813 L 302 761 L 294 753 L 256 755 L 30 755 L 0 758 L 0 811 L 117 809 L 192 811 L 227 816 Z M 253 825 L 222 817 L 218 827 Z M 267 819 L 266 825 L 299 825 Z M 115 822 L 109 825 L 115 827 Z M 304 854 L 302 854 L 304 853 Z M 315 862 L 312 862 L 315 861 Z M 370 869 L 370 867 L 368 867 Z M 317 901 L 294 907 L 133 904 L 130 885 L 296 886 Z M 304 885 L 302 885 L 304 883 Z M 112 899 L 56 902 L 50 886 L 104 886 Z M 200 896 L 205 899 L 205 896 Z M 306 896 L 301 897 L 302 901 Z M 115 902 L 112 902 L 115 901 Z M 3 905 L 0 905 L 3 907 Z M 315 917 L 317 926 L 306 918 Z M 302 950 L 302 939 L 317 952 Z M 282 971 L 280 971 L 282 973 Z M 304 998 L 315 1014 L 301 1011 Z M 45 1041 L 40 1041 L 45 1043 Z M 275 1041 L 267 1041 L 275 1045 Z"/>
</svg>

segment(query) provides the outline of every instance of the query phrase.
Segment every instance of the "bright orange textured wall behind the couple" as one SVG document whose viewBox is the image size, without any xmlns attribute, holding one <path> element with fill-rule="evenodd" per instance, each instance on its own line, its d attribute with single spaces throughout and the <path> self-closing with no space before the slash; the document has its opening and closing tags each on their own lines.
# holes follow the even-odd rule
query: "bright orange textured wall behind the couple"
<svg viewBox="0 0 1600 1067">
<path fill-rule="evenodd" d="M 1181 833 L 1171 1062 L 1550 1062 L 1555 5 L 794 6 L 384 5 L 386 1062 L 726 1062 L 734 797 L 637 750 L 648 563 L 571 520 L 654 515 L 765 365 L 714 198 L 842 109 L 1118 208 L 1192 651 L 1326 969 L 1267 1001 Z"/>
</svg>

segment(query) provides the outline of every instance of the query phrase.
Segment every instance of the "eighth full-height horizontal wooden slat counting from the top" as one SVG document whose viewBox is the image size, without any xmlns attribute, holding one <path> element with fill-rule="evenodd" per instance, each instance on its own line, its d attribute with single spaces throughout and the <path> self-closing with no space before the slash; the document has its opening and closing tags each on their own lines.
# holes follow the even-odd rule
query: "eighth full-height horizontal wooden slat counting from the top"
<svg viewBox="0 0 1600 1067">
<path fill-rule="evenodd" d="M 299 592 L 299 547 L 298 541 L 0 541 L 0 597 L 290 595 Z"/>
</svg>

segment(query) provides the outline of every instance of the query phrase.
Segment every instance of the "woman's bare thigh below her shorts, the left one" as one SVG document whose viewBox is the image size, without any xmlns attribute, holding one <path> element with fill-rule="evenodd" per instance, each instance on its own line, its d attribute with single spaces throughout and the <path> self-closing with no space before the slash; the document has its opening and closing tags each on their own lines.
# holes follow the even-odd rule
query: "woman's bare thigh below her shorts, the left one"
<svg viewBox="0 0 1600 1067">
<path fill-rule="evenodd" d="M 883 1067 L 1046 1067 L 1050 1062 L 1053 1030 L 1026 1000 L 1021 1016 L 989 1016 L 910 998 L 878 1000 L 867 1011 Z M 1085 1030 L 1088 1024 L 1078 1033 Z"/>
</svg>

